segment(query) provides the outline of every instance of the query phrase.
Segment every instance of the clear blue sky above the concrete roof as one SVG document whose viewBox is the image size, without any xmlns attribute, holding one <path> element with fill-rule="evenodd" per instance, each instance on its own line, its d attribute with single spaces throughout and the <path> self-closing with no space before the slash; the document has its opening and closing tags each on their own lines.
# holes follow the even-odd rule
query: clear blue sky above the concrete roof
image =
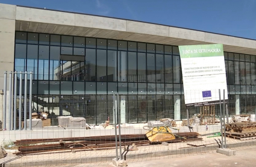
<svg viewBox="0 0 256 167">
<path fill-rule="evenodd" d="M 256 40 L 256 0 L 0 0 L 0 2 L 180 26 Z"/>
</svg>

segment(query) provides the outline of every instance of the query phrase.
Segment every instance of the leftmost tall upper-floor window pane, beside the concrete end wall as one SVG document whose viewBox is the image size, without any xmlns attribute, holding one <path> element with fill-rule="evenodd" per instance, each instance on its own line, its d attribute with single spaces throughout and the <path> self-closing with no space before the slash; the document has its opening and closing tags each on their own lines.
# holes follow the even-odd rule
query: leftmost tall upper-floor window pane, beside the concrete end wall
<svg viewBox="0 0 256 167">
<path fill-rule="evenodd" d="M 15 71 L 26 70 L 27 44 L 16 44 L 15 47 Z"/>
</svg>

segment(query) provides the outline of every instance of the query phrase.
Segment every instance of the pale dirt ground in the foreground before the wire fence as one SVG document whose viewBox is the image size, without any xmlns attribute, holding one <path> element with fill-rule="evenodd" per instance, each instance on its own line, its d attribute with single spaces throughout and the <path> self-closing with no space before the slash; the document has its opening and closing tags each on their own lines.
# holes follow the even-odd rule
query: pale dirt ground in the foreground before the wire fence
<svg viewBox="0 0 256 167">
<path fill-rule="evenodd" d="M 155 167 L 155 166 L 255 166 L 256 146 L 233 148 L 236 156 L 225 156 L 219 153 L 184 154 L 180 156 L 148 157 L 148 159 L 128 160 L 131 167 Z M 69 165 L 70 166 L 70 165 Z M 112 167 L 110 162 L 72 165 L 73 167 L 98 166 Z"/>
</svg>

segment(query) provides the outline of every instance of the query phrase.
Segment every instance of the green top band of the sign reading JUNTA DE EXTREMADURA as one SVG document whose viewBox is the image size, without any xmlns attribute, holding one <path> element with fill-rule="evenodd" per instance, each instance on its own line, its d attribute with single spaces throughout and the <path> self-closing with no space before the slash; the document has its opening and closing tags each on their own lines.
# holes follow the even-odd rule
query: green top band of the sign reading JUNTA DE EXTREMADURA
<svg viewBox="0 0 256 167">
<path fill-rule="evenodd" d="M 223 44 L 179 46 L 181 58 L 224 56 Z"/>
</svg>

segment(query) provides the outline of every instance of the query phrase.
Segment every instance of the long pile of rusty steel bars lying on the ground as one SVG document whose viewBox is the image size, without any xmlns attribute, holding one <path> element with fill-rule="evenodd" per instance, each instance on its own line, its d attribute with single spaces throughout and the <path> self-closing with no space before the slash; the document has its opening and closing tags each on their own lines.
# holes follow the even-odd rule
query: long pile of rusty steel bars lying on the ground
<svg viewBox="0 0 256 167">
<path fill-rule="evenodd" d="M 167 142 L 184 142 L 184 141 L 198 141 L 199 133 L 186 132 L 175 133 L 176 139 Z M 186 138 L 186 139 L 184 139 Z M 49 151 L 63 151 L 63 150 L 103 150 L 114 149 L 116 146 L 116 139 L 114 135 L 109 136 L 91 136 L 84 138 L 55 138 L 55 139 L 24 139 L 14 142 L 18 146 L 18 151 L 13 154 L 25 155 L 43 153 Z M 117 144 L 119 145 L 119 138 L 117 136 Z M 136 135 L 121 135 L 121 145 L 136 146 L 150 145 L 152 142 L 148 140 L 145 134 Z"/>
</svg>

